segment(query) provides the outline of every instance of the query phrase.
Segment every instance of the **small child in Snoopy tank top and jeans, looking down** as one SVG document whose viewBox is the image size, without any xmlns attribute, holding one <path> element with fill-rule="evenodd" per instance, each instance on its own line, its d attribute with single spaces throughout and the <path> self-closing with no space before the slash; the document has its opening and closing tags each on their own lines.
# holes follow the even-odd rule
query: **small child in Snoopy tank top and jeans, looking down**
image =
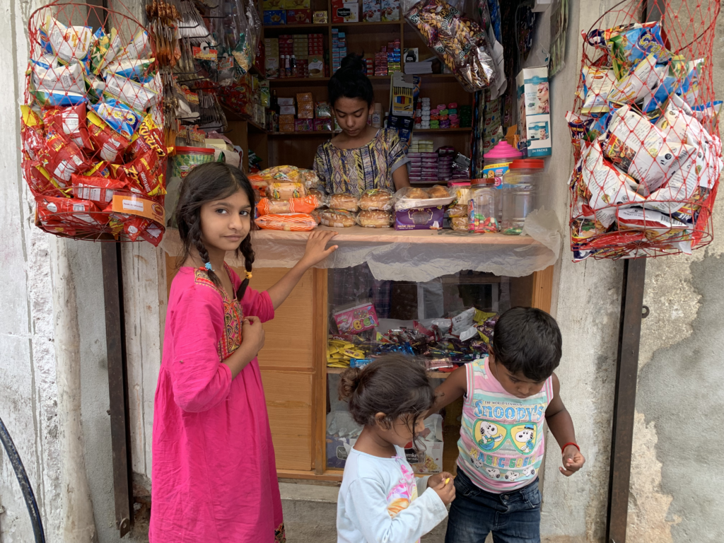
<svg viewBox="0 0 724 543">
<path fill-rule="evenodd" d="M 489 355 L 462 366 L 435 390 L 428 415 L 463 397 L 458 441 L 457 499 L 445 543 L 539 543 L 538 470 L 544 422 L 561 447 L 571 476 L 586 461 L 553 370 L 561 355 L 555 319 L 535 308 L 513 308 L 495 324 Z"/>
</svg>

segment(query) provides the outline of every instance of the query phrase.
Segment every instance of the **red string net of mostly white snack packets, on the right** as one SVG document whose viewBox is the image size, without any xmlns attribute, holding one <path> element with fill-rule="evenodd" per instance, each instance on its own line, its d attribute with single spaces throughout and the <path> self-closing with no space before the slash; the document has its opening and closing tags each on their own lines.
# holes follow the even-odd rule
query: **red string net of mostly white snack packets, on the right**
<svg viewBox="0 0 724 543">
<path fill-rule="evenodd" d="M 712 81 L 719 10 L 719 0 L 626 0 L 582 33 L 566 116 L 575 261 L 690 254 L 712 241 L 723 168 Z"/>
</svg>

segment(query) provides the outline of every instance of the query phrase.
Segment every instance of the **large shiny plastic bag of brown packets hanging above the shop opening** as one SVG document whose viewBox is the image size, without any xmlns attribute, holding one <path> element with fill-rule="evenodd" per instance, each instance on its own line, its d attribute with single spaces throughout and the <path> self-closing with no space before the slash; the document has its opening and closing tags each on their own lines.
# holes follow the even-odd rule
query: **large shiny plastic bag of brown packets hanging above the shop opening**
<svg viewBox="0 0 724 543">
<path fill-rule="evenodd" d="M 468 92 L 497 88 L 497 67 L 487 33 L 443 0 L 422 0 L 405 14 L 437 57 Z"/>
</svg>

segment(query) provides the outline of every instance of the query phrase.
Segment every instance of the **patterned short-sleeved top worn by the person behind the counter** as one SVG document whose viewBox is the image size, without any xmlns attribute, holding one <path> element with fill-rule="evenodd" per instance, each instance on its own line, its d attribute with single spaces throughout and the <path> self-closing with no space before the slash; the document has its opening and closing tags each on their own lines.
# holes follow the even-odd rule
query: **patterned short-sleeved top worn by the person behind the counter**
<svg viewBox="0 0 724 543">
<path fill-rule="evenodd" d="M 409 159 L 395 130 L 383 128 L 366 145 L 340 149 L 329 140 L 317 148 L 314 171 L 328 194 L 361 195 L 370 188 L 395 190 L 392 172 Z"/>
</svg>

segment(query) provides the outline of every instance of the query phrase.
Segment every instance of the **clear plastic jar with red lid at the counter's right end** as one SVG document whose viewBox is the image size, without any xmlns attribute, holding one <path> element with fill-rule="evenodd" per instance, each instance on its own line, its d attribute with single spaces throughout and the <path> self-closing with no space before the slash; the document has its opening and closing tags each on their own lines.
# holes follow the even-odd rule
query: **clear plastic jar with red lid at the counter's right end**
<svg viewBox="0 0 724 543">
<path fill-rule="evenodd" d="M 500 231 L 520 235 L 526 216 L 538 206 L 538 188 L 543 173 L 542 159 L 521 159 L 510 163 L 502 185 Z"/>
</svg>

